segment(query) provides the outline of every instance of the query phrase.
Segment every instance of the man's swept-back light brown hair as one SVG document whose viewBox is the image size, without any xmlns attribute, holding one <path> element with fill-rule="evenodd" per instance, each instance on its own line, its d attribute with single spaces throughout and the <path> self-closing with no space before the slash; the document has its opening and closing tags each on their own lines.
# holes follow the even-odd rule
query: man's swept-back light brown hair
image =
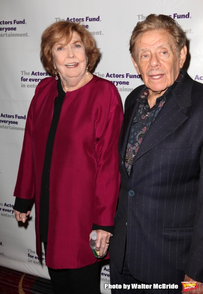
<svg viewBox="0 0 203 294">
<path fill-rule="evenodd" d="M 130 39 L 130 52 L 133 59 L 136 61 L 136 50 L 135 42 L 140 34 L 146 31 L 165 29 L 169 34 L 171 34 L 175 41 L 175 48 L 177 50 L 177 56 L 180 54 L 180 50 L 184 47 L 186 43 L 186 35 L 181 26 L 171 17 L 164 14 L 150 14 L 146 17 L 143 22 L 138 23 Z"/>
</svg>

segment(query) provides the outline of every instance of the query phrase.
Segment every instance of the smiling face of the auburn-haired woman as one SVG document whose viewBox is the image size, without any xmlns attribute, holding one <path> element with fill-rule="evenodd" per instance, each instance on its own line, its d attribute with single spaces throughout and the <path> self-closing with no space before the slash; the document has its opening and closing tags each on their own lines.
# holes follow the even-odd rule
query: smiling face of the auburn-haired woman
<svg viewBox="0 0 203 294">
<path fill-rule="evenodd" d="M 86 73 L 88 58 L 80 36 L 73 32 L 68 45 L 62 41 L 52 48 L 54 68 L 62 80 L 68 82 L 71 78 L 81 80 Z"/>
</svg>

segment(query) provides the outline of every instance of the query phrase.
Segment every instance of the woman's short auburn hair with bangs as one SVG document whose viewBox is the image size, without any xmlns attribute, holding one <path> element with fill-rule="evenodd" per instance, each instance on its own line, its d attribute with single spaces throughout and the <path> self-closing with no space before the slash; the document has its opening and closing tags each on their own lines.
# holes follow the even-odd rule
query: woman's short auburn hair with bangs
<svg viewBox="0 0 203 294">
<path fill-rule="evenodd" d="M 68 21 L 56 22 L 49 25 L 42 34 L 41 38 L 41 52 L 40 59 L 48 73 L 54 75 L 55 69 L 53 67 L 52 48 L 56 43 L 66 41 L 67 44 L 72 38 L 73 32 L 76 32 L 85 47 L 85 52 L 88 57 L 88 69 L 91 70 L 100 56 L 99 49 L 96 47 L 95 40 L 91 33 L 84 25 L 79 23 L 72 23 Z"/>
</svg>

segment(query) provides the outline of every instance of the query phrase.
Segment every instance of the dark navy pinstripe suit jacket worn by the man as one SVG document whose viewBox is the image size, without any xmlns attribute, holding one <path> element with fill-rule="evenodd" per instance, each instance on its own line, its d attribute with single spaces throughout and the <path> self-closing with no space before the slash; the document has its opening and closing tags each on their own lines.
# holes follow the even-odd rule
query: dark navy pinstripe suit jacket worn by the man
<svg viewBox="0 0 203 294">
<path fill-rule="evenodd" d="M 146 133 L 130 177 L 124 160 L 144 86 L 125 102 L 110 258 L 121 272 L 126 250 L 130 272 L 147 283 L 180 283 L 184 272 L 203 282 L 203 84 L 183 72 Z"/>
</svg>

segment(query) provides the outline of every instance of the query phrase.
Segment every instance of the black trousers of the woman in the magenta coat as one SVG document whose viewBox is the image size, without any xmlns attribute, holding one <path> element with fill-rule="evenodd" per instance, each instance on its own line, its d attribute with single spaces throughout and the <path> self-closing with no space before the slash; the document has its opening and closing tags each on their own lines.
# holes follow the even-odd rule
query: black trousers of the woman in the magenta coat
<svg viewBox="0 0 203 294">
<path fill-rule="evenodd" d="M 45 255 L 47 243 L 44 243 Z M 48 267 L 54 294 L 101 294 L 99 263 L 80 268 L 54 270 Z"/>
</svg>

